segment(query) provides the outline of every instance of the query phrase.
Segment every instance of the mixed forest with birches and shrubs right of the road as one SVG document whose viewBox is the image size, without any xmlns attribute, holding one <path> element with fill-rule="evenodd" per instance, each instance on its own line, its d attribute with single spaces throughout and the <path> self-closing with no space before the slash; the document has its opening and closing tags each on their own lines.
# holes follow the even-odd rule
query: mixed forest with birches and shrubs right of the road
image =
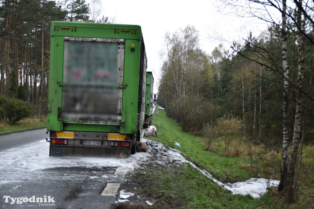
<svg viewBox="0 0 314 209">
<path fill-rule="evenodd" d="M 158 103 L 209 151 L 246 155 L 254 176 L 280 179 L 281 198 L 295 201 L 313 175 L 313 2 L 222 4 L 268 29 L 210 55 L 193 26 L 166 34 Z"/>
</svg>

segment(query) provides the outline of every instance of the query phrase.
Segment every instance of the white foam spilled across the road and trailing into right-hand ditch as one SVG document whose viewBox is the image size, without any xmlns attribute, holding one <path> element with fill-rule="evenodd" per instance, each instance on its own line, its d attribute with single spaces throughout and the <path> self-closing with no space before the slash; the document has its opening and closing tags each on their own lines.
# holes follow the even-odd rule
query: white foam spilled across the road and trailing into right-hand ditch
<svg viewBox="0 0 314 209">
<path fill-rule="evenodd" d="M 278 186 L 278 180 L 266 180 L 252 178 L 243 182 L 237 182 L 234 184 L 224 184 L 218 180 L 215 180 L 206 170 L 199 169 L 193 163 L 187 161 L 176 149 L 166 149 L 165 146 L 156 141 L 142 138 L 141 141 L 147 144 L 147 152 L 139 152 L 131 155 L 127 159 L 116 158 L 97 158 L 97 157 L 49 157 L 49 143 L 46 140 L 35 142 L 20 146 L 18 148 L 12 148 L 1 152 L 0 155 L 0 185 L 7 182 L 16 181 L 18 179 L 12 179 L 10 173 L 17 172 L 31 173 L 29 171 L 37 171 L 47 168 L 58 167 L 118 167 L 115 175 L 124 175 L 127 172 L 133 171 L 135 168 L 144 166 L 147 163 L 153 162 L 155 165 L 168 165 L 171 162 L 176 163 L 188 163 L 194 168 L 198 169 L 202 174 L 214 182 L 219 184 L 222 188 L 230 190 L 233 194 L 251 195 L 252 197 L 260 197 L 269 186 Z M 103 176 L 106 178 L 106 176 Z M 31 178 L 31 176 L 24 178 Z M 91 175 L 93 178 L 93 175 Z"/>
</svg>

